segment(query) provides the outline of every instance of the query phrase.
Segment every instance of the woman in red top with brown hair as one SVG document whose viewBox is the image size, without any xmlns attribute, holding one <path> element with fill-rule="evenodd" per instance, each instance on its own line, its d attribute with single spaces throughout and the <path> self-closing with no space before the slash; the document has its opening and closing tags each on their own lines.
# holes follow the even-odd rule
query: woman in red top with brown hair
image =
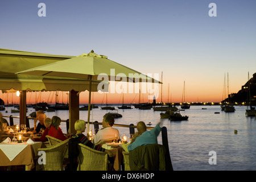
<svg viewBox="0 0 256 182">
<path fill-rule="evenodd" d="M 61 119 L 57 116 L 53 116 L 51 119 L 51 124 L 49 125 L 49 129 L 48 129 L 48 134 L 51 137 L 57 138 L 59 140 L 66 140 L 68 139 L 67 137 L 65 137 L 65 135 L 62 133 L 61 129 L 60 129 L 60 122 Z M 46 138 L 41 140 L 42 142 L 46 142 Z"/>
</svg>

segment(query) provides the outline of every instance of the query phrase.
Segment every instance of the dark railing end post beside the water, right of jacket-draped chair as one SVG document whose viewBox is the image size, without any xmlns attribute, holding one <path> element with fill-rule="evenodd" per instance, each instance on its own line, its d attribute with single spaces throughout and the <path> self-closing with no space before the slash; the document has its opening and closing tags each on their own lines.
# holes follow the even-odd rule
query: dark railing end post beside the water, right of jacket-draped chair
<svg viewBox="0 0 256 182">
<path fill-rule="evenodd" d="M 169 145 L 168 145 L 168 136 L 167 136 L 167 129 L 166 127 L 162 127 L 162 142 L 164 148 L 166 148 L 166 171 L 174 171 L 174 168 L 172 168 L 172 161 L 169 151 Z"/>
</svg>

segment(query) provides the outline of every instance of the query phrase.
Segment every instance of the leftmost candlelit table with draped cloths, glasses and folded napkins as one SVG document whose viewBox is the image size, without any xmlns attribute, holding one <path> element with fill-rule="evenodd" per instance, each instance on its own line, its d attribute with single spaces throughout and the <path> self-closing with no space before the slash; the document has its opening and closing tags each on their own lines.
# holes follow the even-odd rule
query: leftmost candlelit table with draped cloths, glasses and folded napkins
<svg viewBox="0 0 256 182">
<path fill-rule="evenodd" d="M 18 125 L 8 126 L 2 130 L 0 143 L 0 166 L 24 165 L 26 171 L 34 168 L 34 160 L 38 156 L 38 148 L 44 147 L 40 135 L 27 129 L 19 130 Z"/>
</svg>

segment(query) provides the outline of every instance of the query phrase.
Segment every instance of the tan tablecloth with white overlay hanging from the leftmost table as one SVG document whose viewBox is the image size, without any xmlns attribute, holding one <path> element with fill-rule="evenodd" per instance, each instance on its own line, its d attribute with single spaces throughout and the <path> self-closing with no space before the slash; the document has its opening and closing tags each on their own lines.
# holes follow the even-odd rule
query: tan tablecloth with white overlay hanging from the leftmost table
<svg viewBox="0 0 256 182">
<path fill-rule="evenodd" d="M 34 168 L 34 158 L 38 155 L 38 148 L 42 142 L 34 143 L 0 143 L 0 166 L 25 165 L 26 171 Z"/>
</svg>

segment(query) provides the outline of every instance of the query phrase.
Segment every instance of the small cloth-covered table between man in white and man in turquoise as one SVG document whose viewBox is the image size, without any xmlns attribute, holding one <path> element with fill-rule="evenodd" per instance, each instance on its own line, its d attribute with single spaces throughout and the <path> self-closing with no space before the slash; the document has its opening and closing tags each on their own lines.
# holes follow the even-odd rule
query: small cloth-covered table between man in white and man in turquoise
<svg viewBox="0 0 256 182">
<path fill-rule="evenodd" d="M 122 152 L 125 151 L 121 147 L 120 143 L 105 143 L 102 145 L 103 148 L 106 148 L 110 152 L 112 152 L 114 157 L 114 169 L 115 171 L 121 170 L 121 162 L 123 160 Z"/>
</svg>

